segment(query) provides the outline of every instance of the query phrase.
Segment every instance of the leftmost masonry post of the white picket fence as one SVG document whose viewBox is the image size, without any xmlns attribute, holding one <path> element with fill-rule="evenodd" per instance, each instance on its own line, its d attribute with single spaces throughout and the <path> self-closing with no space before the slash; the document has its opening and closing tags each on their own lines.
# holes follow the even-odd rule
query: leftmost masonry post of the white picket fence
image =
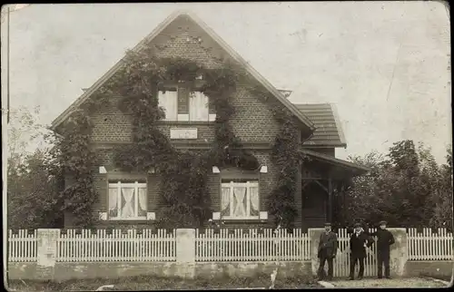
<svg viewBox="0 0 454 292">
<path fill-rule="evenodd" d="M 57 239 L 60 229 L 38 229 L 36 232 L 36 277 L 54 279 L 55 260 L 57 258 Z"/>
</svg>

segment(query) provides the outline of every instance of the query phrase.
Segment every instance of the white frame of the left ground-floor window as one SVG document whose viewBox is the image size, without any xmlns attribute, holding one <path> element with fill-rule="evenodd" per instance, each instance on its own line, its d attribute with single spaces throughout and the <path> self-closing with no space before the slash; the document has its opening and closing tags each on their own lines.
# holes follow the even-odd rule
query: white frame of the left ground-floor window
<svg viewBox="0 0 454 292">
<path fill-rule="evenodd" d="M 143 220 L 146 219 L 146 214 L 144 216 L 137 216 L 139 214 L 139 189 L 145 189 L 145 194 L 148 194 L 147 190 L 147 184 L 146 183 L 139 183 L 138 181 L 134 182 L 122 182 L 119 180 L 118 182 L 109 182 L 109 187 L 107 188 L 107 206 L 109 206 L 109 200 L 110 200 L 110 194 L 109 191 L 110 189 L 117 188 L 117 217 L 111 217 L 108 216 L 109 220 Z M 135 217 L 129 217 L 129 218 L 123 218 L 121 217 L 121 201 L 122 201 L 122 188 L 128 188 L 128 189 L 134 189 L 134 214 L 136 215 Z M 148 207 L 148 196 L 145 196 L 146 198 L 146 206 Z M 109 208 L 109 207 L 107 207 Z M 146 212 L 148 212 L 148 208 L 145 209 Z M 107 211 L 107 215 L 109 215 L 110 209 Z"/>
</svg>

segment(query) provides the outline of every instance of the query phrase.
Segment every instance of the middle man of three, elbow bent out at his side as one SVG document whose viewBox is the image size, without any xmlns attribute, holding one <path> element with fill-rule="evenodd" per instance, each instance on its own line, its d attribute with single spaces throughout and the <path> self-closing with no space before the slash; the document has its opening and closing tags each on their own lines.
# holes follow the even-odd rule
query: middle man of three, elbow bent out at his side
<svg viewBox="0 0 454 292">
<path fill-rule="evenodd" d="M 356 263 L 360 263 L 360 272 L 358 279 L 364 276 L 364 258 L 366 258 L 366 247 L 370 248 L 373 239 L 364 232 L 360 223 L 355 224 L 355 229 L 350 237 L 350 277 L 349 280 L 354 279 Z"/>
</svg>

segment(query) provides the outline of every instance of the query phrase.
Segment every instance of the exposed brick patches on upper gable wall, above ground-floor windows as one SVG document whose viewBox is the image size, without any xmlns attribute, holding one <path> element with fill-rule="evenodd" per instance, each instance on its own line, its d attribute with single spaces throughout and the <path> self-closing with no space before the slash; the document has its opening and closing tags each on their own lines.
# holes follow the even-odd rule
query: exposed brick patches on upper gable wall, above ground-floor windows
<svg viewBox="0 0 454 292">
<path fill-rule="evenodd" d="M 209 41 L 208 35 L 201 30 L 189 28 L 190 24 L 183 20 L 177 20 L 170 24 L 167 29 L 155 38 L 160 57 L 183 56 L 203 63 L 208 68 L 219 66 L 216 58 L 222 57 L 222 52 L 217 44 Z M 187 39 L 202 37 L 202 44 L 187 43 Z M 113 97 L 110 105 L 92 116 L 94 124 L 93 141 L 131 141 L 131 118 L 123 115 L 117 109 L 119 98 Z M 264 102 L 260 97 L 252 96 L 245 86 L 239 86 L 232 94 L 232 105 L 235 113 L 231 124 L 235 134 L 242 141 L 268 141 L 274 140 L 279 129 L 279 124 L 272 118 L 271 109 L 277 102 Z M 170 128 L 193 128 L 193 124 L 181 122 L 164 122 L 160 126 L 167 136 L 170 136 Z M 202 122 L 197 124 L 198 139 L 196 141 L 212 141 L 214 126 L 212 123 Z"/>
</svg>

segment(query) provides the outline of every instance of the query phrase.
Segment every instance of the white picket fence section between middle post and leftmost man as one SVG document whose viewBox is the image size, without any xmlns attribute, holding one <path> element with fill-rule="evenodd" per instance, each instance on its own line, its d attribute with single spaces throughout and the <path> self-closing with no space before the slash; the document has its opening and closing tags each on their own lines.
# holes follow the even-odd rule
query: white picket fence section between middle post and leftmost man
<svg viewBox="0 0 454 292">
<path fill-rule="evenodd" d="M 310 260 L 310 238 L 301 229 L 196 230 L 195 261 Z"/>
</svg>

